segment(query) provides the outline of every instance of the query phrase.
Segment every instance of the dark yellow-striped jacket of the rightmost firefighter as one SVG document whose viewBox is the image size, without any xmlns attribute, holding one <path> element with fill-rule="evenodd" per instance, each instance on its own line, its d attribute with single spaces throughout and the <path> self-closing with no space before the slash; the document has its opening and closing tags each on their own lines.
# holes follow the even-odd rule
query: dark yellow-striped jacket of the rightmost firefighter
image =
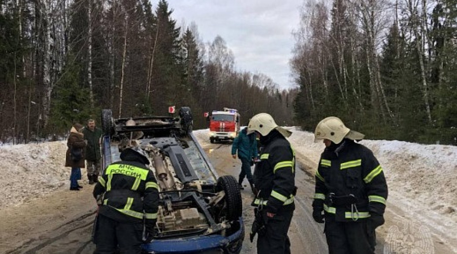
<svg viewBox="0 0 457 254">
<path fill-rule="evenodd" d="M 334 215 L 336 221 L 364 219 L 372 213 L 383 215 L 388 190 L 381 165 L 367 147 L 350 139 L 340 144 L 336 149 L 325 148 L 321 154 L 313 209 Z M 355 206 L 338 201 L 348 195 L 355 196 L 350 202 Z"/>
</svg>

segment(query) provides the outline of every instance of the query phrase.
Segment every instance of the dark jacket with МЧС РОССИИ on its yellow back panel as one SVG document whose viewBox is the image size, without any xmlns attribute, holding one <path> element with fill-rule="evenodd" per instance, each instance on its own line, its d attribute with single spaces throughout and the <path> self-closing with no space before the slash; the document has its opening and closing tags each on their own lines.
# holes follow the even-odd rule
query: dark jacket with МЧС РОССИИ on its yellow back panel
<svg viewBox="0 0 457 254">
<path fill-rule="evenodd" d="M 157 218 L 158 186 L 144 164 L 121 161 L 108 166 L 93 189 L 102 195 L 99 213 L 120 222 L 143 222 L 153 227 Z"/>
</svg>

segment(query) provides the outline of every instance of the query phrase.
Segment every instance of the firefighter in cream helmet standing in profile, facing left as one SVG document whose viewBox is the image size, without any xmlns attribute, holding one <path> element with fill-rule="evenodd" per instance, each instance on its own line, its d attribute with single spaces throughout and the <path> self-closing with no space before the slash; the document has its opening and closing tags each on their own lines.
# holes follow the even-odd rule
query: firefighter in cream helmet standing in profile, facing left
<svg viewBox="0 0 457 254">
<path fill-rule="evenodd" d="M 278 126 L 267 113 L 251 118 L 248 133 L 253 132 L 263 149 L 254 170 L 254 186 L 258 193 L 252 202 L 256 208 L 251 241 L 257 233 L 257 253 L 290 253 L 287 231 L 295 210 L 293 198 L 297 192 L 295 155 L 286 140 L 291 132 Z"/>
</svg>

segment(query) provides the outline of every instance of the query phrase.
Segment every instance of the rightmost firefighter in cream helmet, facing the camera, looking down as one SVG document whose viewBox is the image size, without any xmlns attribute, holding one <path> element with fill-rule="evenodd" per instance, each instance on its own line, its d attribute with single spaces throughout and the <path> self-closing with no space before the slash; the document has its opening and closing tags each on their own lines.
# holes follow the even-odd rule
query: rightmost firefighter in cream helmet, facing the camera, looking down
<svg viewBox="0 0 457 254">
<path fill-rule="evenodd" d="M 313 218 L 324 223 L 331 254 L 374 253 L 375 229 L 384 224 L 387 184 L 373 152 L 354 141 L 365 135 L 337 117 L 321 120 L 314 132 L 325 149 L 316 171 Z"/>
</svg>

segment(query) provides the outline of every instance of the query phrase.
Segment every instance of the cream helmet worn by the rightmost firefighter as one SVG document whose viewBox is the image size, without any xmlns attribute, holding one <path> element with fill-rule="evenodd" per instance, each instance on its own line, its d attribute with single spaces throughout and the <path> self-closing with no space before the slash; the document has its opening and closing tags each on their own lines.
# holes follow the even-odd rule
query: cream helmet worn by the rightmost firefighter
<svg viewBox="0 0 457 254">
<path fill-rule="evenodd" d="M 339 144 L 344 138 L 362 140 L 364 137 L 365 135 L 360 132 L 351 131 L 340 118 L 335 116 L 321 120 L 314 131 L 314 142 L 318 142 L 320 139 L 328 139 Z"/>
</svg>

